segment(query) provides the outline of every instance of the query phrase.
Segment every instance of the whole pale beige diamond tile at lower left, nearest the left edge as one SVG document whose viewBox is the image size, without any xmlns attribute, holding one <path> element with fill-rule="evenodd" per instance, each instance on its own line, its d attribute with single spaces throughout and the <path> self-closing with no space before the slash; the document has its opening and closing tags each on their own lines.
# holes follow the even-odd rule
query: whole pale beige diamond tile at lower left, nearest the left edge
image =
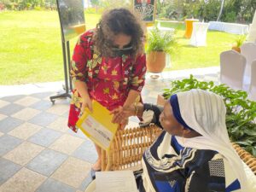
<svg viewBox="0 0 256 192">
<path fill-rule="evenodd" d="M 30 160 L 37 156 L 44 148 L 33 143 L 24 142 L 17 148 L 9 151 L 3 156 L 6 160 L 11 160 L 21 166 L 25 166 Z"/>
</svg>

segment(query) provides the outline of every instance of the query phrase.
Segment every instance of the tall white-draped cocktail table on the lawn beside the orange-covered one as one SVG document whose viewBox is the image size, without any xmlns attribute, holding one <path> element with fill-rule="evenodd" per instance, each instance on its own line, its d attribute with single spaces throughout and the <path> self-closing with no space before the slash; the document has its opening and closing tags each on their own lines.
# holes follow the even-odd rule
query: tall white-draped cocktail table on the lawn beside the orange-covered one
<svg viewBox="0 0 256 192">
<path fill-rule="evenodd" d="M 207 30 L 208 23 L 203 22 L 194 22 L 193 23 L 193 32 L 190 38 L 190 44 L 196 47 L 206 46 L 207 45 Z"/>
</svg>

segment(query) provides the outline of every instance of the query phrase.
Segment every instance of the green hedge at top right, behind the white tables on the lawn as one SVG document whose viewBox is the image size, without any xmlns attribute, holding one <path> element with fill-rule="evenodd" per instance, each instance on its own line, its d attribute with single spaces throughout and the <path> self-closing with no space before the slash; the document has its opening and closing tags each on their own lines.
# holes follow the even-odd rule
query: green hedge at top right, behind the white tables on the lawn
<svg viewBox="0 0 256 192">
<path fill-rule="evenodd" d="M 251 23 L 256 9 L 255 0 L 158 0 L 159 17 L 183 20 L 195 17 L 217 20 L 222 1 L 221 21 Z"/>
</svg>

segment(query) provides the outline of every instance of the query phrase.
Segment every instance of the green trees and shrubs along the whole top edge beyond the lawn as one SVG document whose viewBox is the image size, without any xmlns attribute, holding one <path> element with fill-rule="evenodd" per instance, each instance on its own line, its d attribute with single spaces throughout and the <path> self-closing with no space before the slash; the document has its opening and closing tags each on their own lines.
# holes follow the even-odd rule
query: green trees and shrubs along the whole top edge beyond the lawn
<svg viewBox="0 0 256 192">
<path fill-rule="evenodd" d="M 184 20 L 195 17 L 201 20 L 217 20 L 221 3 L 224 9 L 221 21 L 251 23 L 256 9 L 255 0 L 157 0 L 158 17 Z M 103 9 L 129 7 L 132 0 L 84 0 L 90 14 L 100 14 Z M 0 0 L 0 10 L 56 9 L 56 0 Z"/>
</svg>

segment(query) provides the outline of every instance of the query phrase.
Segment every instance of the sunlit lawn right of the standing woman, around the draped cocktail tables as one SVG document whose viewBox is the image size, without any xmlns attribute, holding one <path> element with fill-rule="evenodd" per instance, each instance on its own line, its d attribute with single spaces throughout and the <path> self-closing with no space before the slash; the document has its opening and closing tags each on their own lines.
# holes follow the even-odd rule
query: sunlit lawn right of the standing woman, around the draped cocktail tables
<svg viewBox="0 0 256 192">
<path fill-rule="evenodd" d="M 172 57 L 171 68 L 166 70 L 179 70 L 197 67 L 219 66 L 219 54 L 229 50 L 234 44 L 237 35 L 226 32 L 207 32 L 207 46 L 194 47 L 189 45 L 189 39 L 183 38 L 185 27 L 183 24 L 162 23 L 161 26 L 168 26 L 177 29 L 178 54 Z"/>
</svg>

